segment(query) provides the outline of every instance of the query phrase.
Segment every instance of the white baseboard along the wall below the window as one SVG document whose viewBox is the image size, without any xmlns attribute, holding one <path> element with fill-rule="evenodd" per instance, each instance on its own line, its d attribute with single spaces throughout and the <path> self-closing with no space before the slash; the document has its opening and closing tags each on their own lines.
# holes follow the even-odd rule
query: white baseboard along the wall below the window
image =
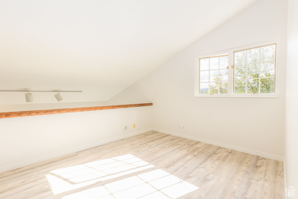
<svg viewBox="0 0 298 199">
<path fill-rule="evenodd" d="M 210 141 L 210 140 L 195 138 L 195 137 L 192 137 L 192 136 L 182 135 L 182 134 L 174 133 L 174 132 L 170 132 L 170 131 L 164 131 L 164 130 L 161 130 L 161 129 L 154 129 L 153 128 L 153 130 L 161 132 L 161 133 L 175 135 L 175 136 L 178 136 L 178 137 L 181 137 L 181 138 L 187 138 L 187 139 L 190 139 L 190 140 L 204 142 L 204 143 L 212 144 L 212 145 L 215 145 L 215 146 L 221 146 L 221 147 L 224 147 L 224 148 L 227 148 L 227 149 L 232 149 L 232 150 L 235 150 L 235 151 L 240 151 L 240 152 L 244 152 L 244 153 L 248 153 L 248 154 L 252 154 L 252 155 L 257 155 L 257 156 L 264 157 L 264 158 L 269 158 L 269 159 L 272 159 L 272 160 L 277 160 L 277 161 L 282 161 L 282 162 L 284 161 L 284 157 L 277 156 L 277 155 L 272 155 L 272 154 L 268 154 L 268 153 L 254 151 L 254 150 L 251 150 L 251 149 L 245 149 L 245 148 L 242 148 L 242 147 L 232 146 L 232 145 L 229 145 L 229 144 L 223 144 L 223 143 L 214 142 L 214 141 Z"/>
</svg>

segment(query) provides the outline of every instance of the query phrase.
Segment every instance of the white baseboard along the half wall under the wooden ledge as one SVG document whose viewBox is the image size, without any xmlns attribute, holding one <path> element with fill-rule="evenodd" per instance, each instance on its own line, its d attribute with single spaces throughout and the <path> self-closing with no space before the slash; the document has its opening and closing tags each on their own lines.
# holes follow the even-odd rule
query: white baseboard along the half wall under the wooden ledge
<svg viewBox="0 0 298 199">
<path fill-rule="evenodd" d="M 80 147 L 75 148 L 75 149 L 70 149 L 70 150 L 67 150 L 67 151 L 63 151 L 63 152 L 59 152 L 59 153 L 47 155 L 47 156 L 44 156 L 44 157 L 41 157 L 41 158 L 36 158 L 36 159 L 33 159 L 33 160 L 29 160 L 29 161 L 25 161 L 25 162 L 21 162 L 21 163 L 9 165 L 9 166 L 0 168 L 0 173 L 6 172 L 6 171 L 10 171 L 10 170 L 13 170 L 13 169 L 17 169 L 17 168 L 20 168 L 20 167 L 23 167 L 23 166 L 28 166 L 30 164 L 42 162 L 42 161 L 45 161 L 45 160 L 49 160 L 49 159 L 52 159 L 52 158 L 57 158 L 59 156 L 67 155 L 69 153 L 78 152 L 78 151 L 81 151 L 81 150 L 84 150 L 84 149 L 89 149 L 89 148 L 92 148 L 94 146 L 99 146 L 99 145 L 106 144 L 106 143 L 109 143 L 109 142 L 121 140 L 123 138 L 128 138 L 128 137 L 131 137 L 133 135 L 138 135 L 138 134 L 145 133 L 145 132 L 152 131 L 152 130 L 153 129 L 145 129 L 145 130 L 142 130 L 142 131 L 130 133 L 128 135 L 123 135 L 123 136 L 119 136 L 119 137 L 116 137 L 116 138 L 111 138 L 111 139 L 100 141 L 100 142 L 96 142 L 96 143 L 93 143 L 93 144 L 88 144 L 88 145 L 85 145 L 85 146 L 80 146 Z"/>
</svg>

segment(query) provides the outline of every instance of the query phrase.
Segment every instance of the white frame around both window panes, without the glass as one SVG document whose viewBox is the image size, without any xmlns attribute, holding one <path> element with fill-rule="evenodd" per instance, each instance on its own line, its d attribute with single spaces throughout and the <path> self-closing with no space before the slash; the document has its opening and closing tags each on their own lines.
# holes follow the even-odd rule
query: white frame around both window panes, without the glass
<svg viewBox="0 0 298 199">
<path fill-rule="evenodd" d="M 264 41 L 264 42 L 258 42 L 254 44 L 249 44 L 245 46 L 235 47 L 227 50 L 222 50 L 214 53 L 208 53 L 204 55 L 199 55 L 196 57 L 196 66 L 195 66 L 195 97 L 232 97 L 232 98 L 278 98 L 278 52 L 279 52 L 279 42 L 280 38 L 273 39 L 270 41 Z M 232 65 L 234 66 L 234 52 L 251 49 L 251 48 L 257 48 L 262 47 L 266 45 L 273 45 L 276 44 L 276 52 L 275 52 L 275 93 L 243 93 L 243 94 L 237 94 L 234 93 L 234 68 L 232 68 Z M 229 69 L 228 69 L 228 93 L 227 94 L 200 94 L 200 87 L 199 87 L 199 60 L 201 58 L 206 57 L 212 57 L 216 55 L 221 55 L 227 53 L 228 54 L 228 61 L 229 61 Z"/>
</svg>

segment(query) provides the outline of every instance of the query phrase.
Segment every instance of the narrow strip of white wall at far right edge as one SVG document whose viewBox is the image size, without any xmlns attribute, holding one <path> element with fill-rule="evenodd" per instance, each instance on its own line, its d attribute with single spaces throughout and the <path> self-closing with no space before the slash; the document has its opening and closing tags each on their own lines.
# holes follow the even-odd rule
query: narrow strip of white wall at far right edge
<svg viewBox="0 0 298 199">
<path fill-rule="evenodd" d="M 289 0 L 288 42 L 287 42 L 287 81 L 285 105 L 285 174 L 286 186 L 294 186 L 298 198 L 298 1 Z M 291 197 L 292 198 L 292 197 Z"/>
</svg>

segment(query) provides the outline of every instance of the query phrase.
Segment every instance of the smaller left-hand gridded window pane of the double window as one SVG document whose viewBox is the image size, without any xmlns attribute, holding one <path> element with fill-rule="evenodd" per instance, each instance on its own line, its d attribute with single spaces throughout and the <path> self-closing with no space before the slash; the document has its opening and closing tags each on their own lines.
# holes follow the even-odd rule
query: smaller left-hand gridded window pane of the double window
<svg viewBox="0 0 298 199">
<path fill-rule="evenodd" d="M 216 55 L 199 59 L 199 93 L 228 93 L 228 55 Z"/>
</svg>

